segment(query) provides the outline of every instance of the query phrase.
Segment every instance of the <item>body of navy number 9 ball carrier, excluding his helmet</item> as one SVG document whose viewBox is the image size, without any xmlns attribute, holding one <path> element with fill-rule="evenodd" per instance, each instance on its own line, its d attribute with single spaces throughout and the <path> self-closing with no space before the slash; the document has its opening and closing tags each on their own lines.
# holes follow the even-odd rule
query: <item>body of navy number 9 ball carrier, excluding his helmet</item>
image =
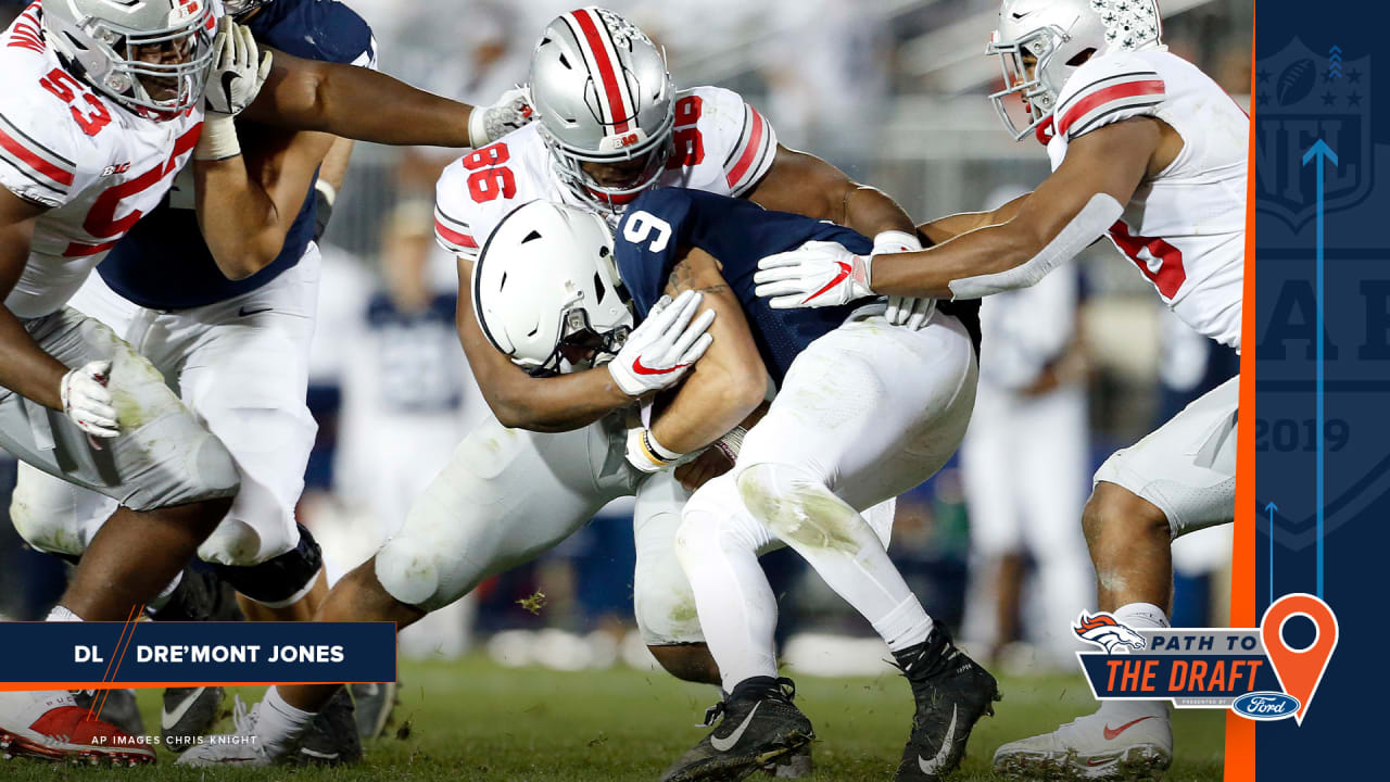
<svg viewBox="0 0 1390 782">
<path fill-rule="evenodd" d="M 812 739 L 794 686 L 777 678 L 777 601 L 758 565 L 781 544 L 869 619 L 912 686 L 916 714 L 895 779 L 954 771 L 998 687 L 908 589 L 885 551 L 888 529 L 860 513 L 931 477 L 959 447 L 974 404 L 979 323 L 935 312 L 922 328 L 892 326 L 881 299 L 774 310 L 753 295 L 762 256 L 806 241 L 862 252 L 873 242 L 726 196 L 644 193 L 617 237 L 619 274 L 638 314 L 663 289 L 702 291 L 717 313 L 699 370 L 630 436 L 642 456 L 680 461 L 752 413 L 769 378 L 778 390 L 733 470 L 681 512 L 674 551 L 728 696 L 716 707 L 723 722 L 663 781 L 739 779 Z"/>
</svg>

